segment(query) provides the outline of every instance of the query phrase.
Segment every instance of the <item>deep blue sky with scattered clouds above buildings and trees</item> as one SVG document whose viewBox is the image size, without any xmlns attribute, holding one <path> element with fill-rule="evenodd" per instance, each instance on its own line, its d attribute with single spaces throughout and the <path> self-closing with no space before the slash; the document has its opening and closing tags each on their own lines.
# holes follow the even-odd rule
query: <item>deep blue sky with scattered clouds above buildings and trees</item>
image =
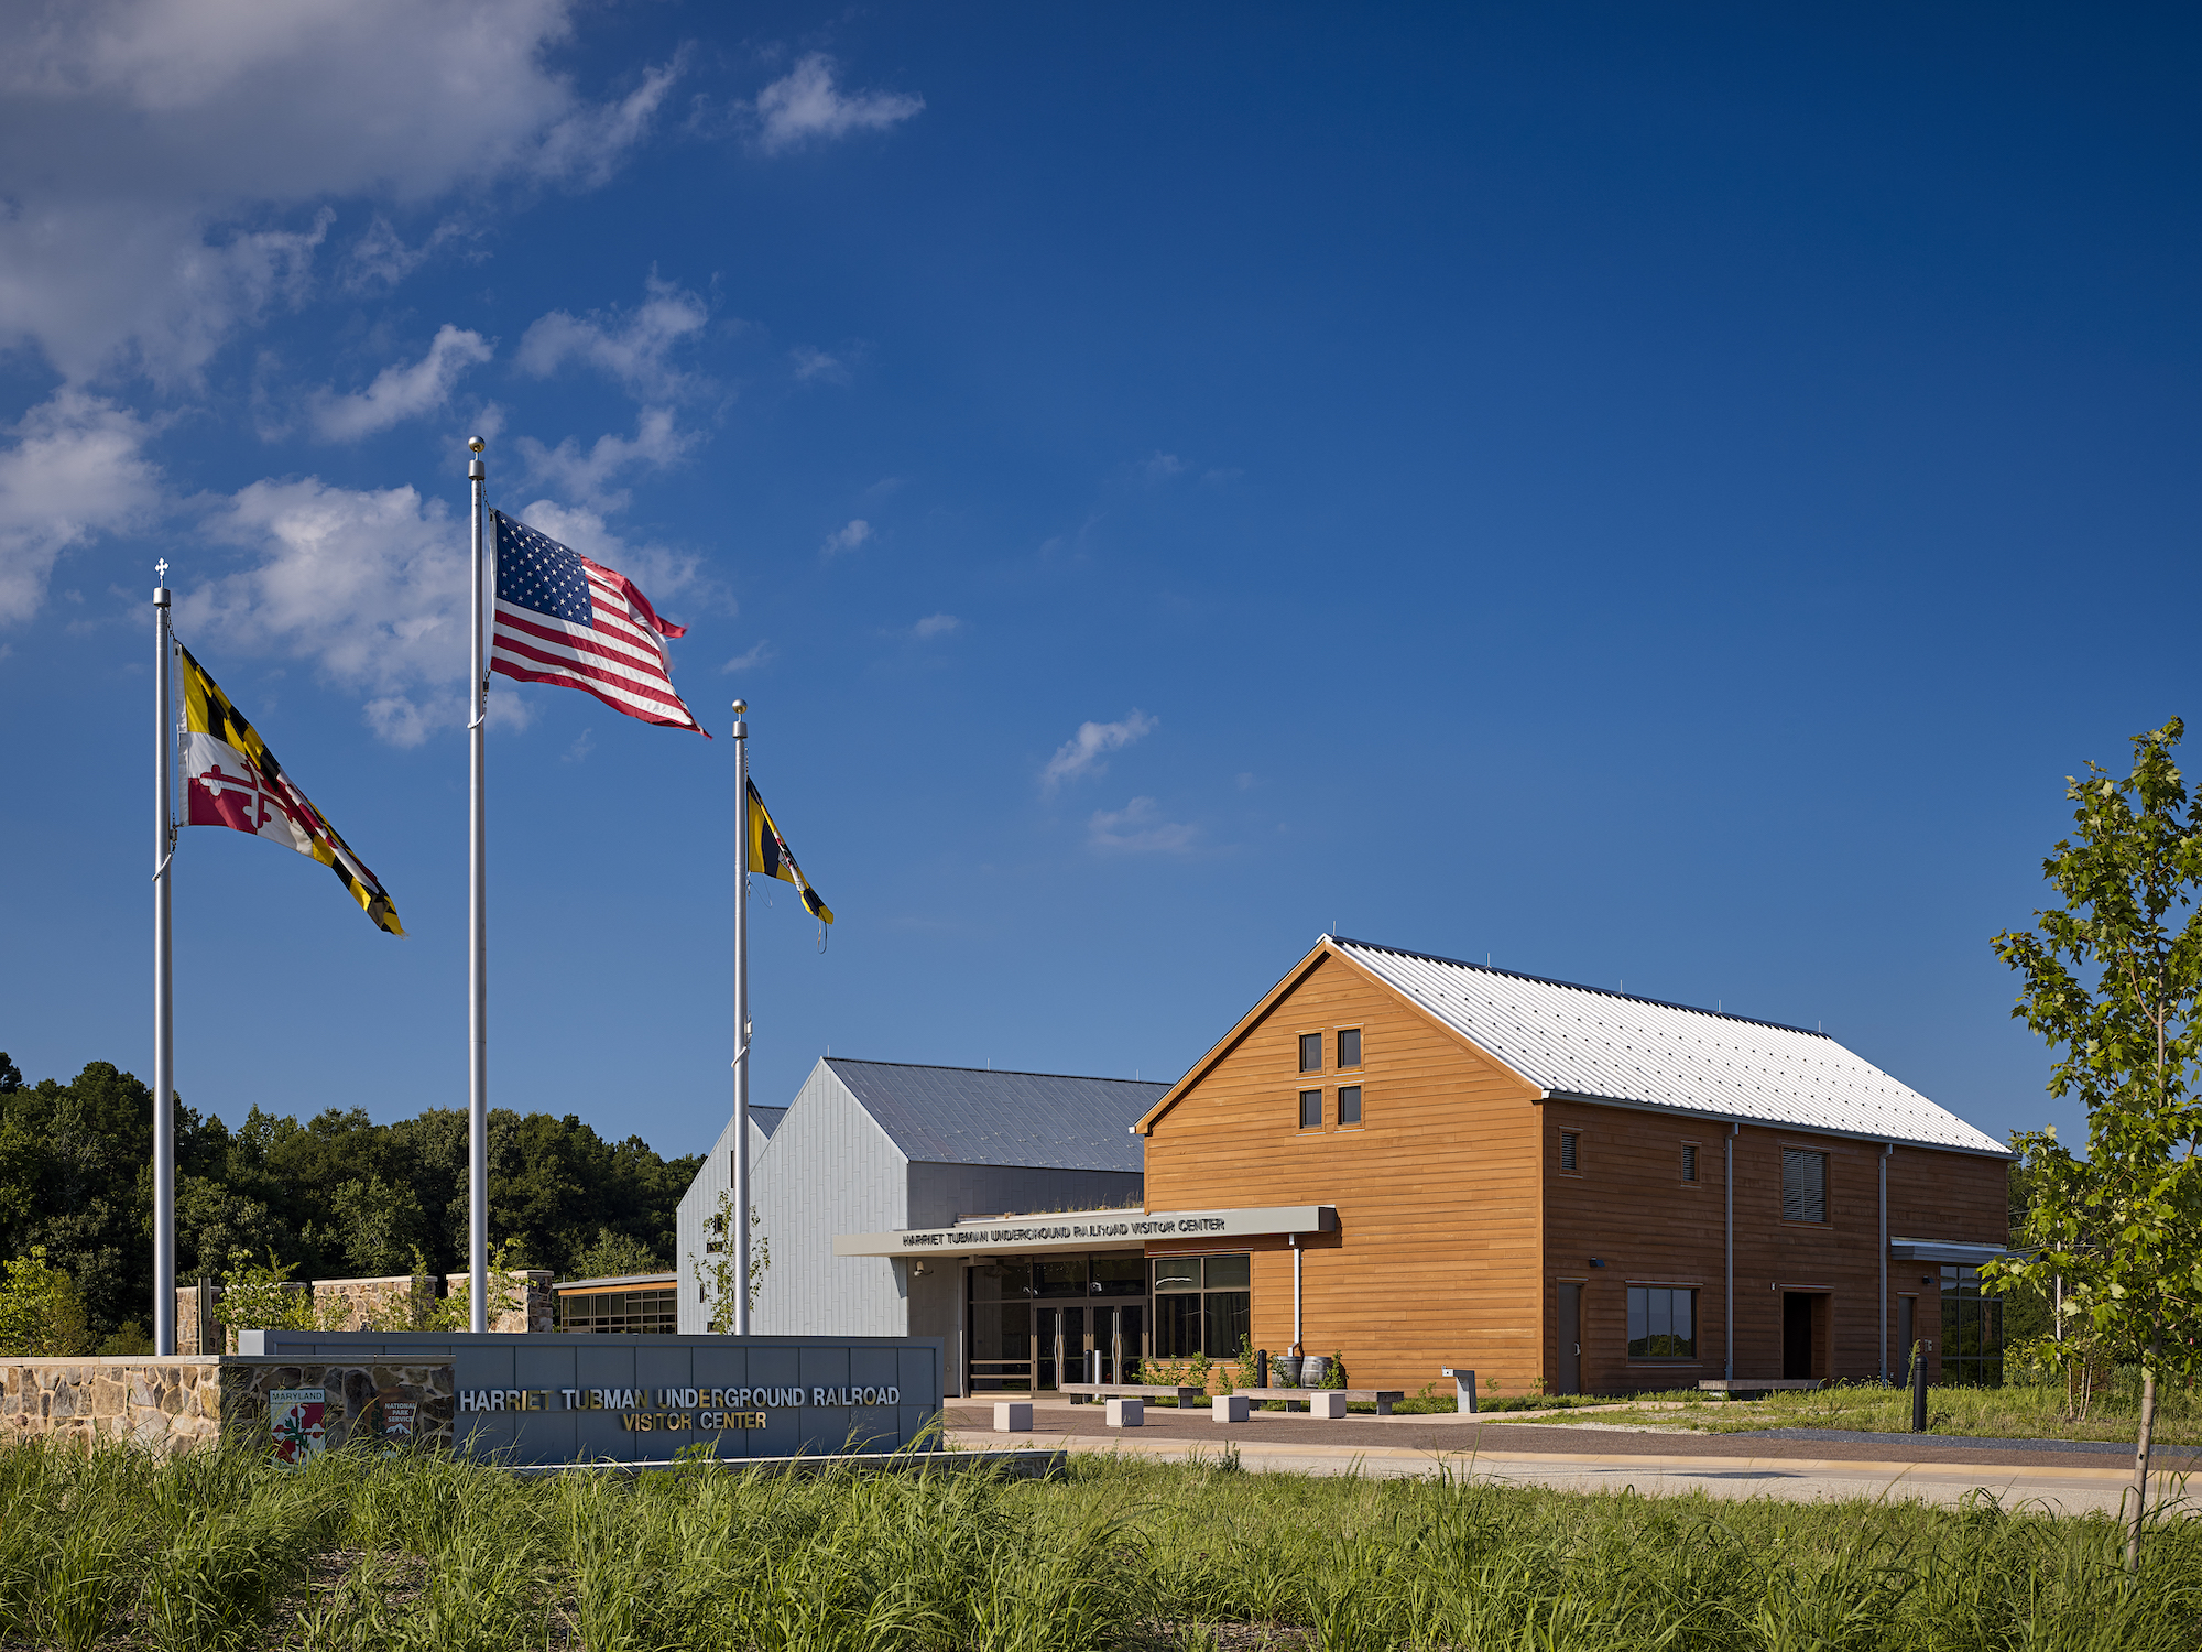
<svg viewBox="0 0 2202 1652">
<path fill-rule="evenodd" d="M 46 13 L 40 13 L 46 15 Z M 2063 775 L 2195 714 L 2189 15 L 81 4 L 0 68 L 0 1048 L 150 1070 L 152 564 L 392 890 L 192 830 L 176 1079 L 462 1106 L 465 438 L 713 742 L 495 689 L 491 1095 L 1174 1077 L 1343 934 L 2004 1134 Z"/>
</svg>

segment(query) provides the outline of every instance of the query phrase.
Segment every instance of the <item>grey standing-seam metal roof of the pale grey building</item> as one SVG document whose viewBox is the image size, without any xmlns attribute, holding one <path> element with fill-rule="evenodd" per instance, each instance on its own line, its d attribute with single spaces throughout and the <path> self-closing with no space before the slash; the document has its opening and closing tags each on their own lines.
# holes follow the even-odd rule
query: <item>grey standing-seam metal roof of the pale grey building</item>
<svg viewBox="0 0 2202 1652">
<path fill-rule="evenodd" d="M 1145 1143 L 1130 1128 L 1169 1090 L 1141 1079 L 848 1062 L 839 1055 L 828 1055 L 826 1066 L 905 1159 L 949 1165 L 1141 1174 L 1147 1167 Z"/>
</svg>

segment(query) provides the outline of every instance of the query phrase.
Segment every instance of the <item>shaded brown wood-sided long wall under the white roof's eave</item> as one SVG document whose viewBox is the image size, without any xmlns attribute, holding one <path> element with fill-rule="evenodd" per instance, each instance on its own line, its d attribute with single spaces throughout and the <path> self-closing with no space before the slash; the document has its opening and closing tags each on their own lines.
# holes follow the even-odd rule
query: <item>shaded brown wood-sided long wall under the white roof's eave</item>
<svg viewBox="0 0 2202 1652">
<path fill-rule="evenodd" d="M 1583 1284 L 1581 1388 L 1614 1394 L 1693 1388 L 1726 1366 L 1724 1161 L 1729 1126 L 1636 1108 L 1546 1101 L 1546 1361 L 1559 1372 L 1557 1286 Z M 1577 1174 L 1559 1170 L 1561 1130 L 1579 1132 Z M 1682 1181 L 1682 1145 L 1698 1143 L 1696 1185 Z M 1828 1222 L 1781 1220 L 1781 1150 L 1828 1154 Z M 1781 1374 L 1781 1295 L 1828 1293 L 1814 1326 L 1814 1377 L 1881 1374 L 1881 1143 L 1746 1123 L 1735 1137 L 1735 1374 Z M 1896 1148 L 1889 1159 L 1889 1236 L 2002 1245 L 2006 1163 L 1982 1154 Z M 1590 1267 L 1599 1258 L 1603 1267 Z M 1940 1291 L 1920 1284 L 1938 1269 L 1889 1262 L 1889 1363 L 1896 1297 L 1918 1293 L 1918 1335 L 1940 1339 Z M 1698 1357 L 1627 1357 L 1627 1286 L 1698 1289 Z M 1940 1379 L 1931 1359 L 1929 1377 Z"/>
</svg>

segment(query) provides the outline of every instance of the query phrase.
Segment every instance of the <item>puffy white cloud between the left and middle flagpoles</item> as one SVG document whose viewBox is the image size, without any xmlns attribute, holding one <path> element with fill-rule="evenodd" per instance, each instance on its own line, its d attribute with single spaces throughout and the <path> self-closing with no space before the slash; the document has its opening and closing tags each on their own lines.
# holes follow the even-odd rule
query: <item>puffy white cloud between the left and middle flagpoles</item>
<svg viewBox="0 0 2202 1652">
<path fill-rule="evenodd" d="M 313 476 L 253 482 L 209 502 L 207 529 L 253 562 L 178 597 L 185 634 L 310 661 L 366 696 L 370 727 L 392 745 L 467 720 L 467 524 L 443 500 Z M 491 709 L 524 716 L 511 696 Z"/>
</svg>

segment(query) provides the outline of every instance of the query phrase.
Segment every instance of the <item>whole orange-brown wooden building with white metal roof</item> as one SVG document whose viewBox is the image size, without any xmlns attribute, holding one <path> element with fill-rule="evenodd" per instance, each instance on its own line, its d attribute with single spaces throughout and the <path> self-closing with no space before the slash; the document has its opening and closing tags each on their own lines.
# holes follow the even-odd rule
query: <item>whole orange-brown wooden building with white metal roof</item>
<svg viewBox="0 0 2202 1652">
<path fill-rule="evenodd" d="M 1999 1379 L 2008 1154 L 1823 1033 L 1323 936 L 1136 1130 L 1149 1211 L 1334 1211 L 1149 1236 L 1156 1313 L 1207 1253 L 1356 1388 Z"/>
</svg>

